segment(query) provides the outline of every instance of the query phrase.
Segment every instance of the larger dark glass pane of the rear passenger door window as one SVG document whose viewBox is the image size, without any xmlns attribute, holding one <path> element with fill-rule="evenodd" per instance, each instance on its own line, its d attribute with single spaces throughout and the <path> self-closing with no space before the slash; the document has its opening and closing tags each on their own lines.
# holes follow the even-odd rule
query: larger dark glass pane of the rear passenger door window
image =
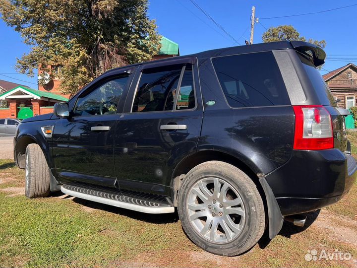
<svg viewBox="0 0 357 268">
<path fill-rule="evenodd" d="M 172 110 L 182 66 L 144 69 L 132 112 Z"/>
</svg>

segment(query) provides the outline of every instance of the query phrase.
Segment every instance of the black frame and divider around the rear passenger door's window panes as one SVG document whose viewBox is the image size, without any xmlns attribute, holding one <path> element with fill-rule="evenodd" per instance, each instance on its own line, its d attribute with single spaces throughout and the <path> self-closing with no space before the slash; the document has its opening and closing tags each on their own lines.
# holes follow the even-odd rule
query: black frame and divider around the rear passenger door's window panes
<svg viewBox="0 0 357 268">
<path fill-rule="evenodd" d="M 172 66 L 172 65 L 180 65 L 180 64 L 182 64 L 183 66 L 181 68 L 181 73 L 180 73 L 179 81 L 178 81 L 179 91 L 178 91 L 178 94 L 176 94 L 176 96 L 175 96 L 173 109 L 172 110 L 162 110 L 162 111 L 133 112 L 132 109 L 133 109 L 133 106 L 134 106 L 134 100 L 135 100 L 136 93 L 137 93 L 137 90 L 138 90 L 138 87 L 139 87 L 141 76 L 143 74 L 143 70 L 152 69 L 152 68 L 158 68 L 158 67 L 167 67 L 167 66 Z M 194 97 L 195 97 L 195 106 L 193 108 L 191 108 L 191 109 L 178 110 L 178 109 L 176 109 L 177 98 L 178 98 L 179 92 L 181 90 L 182 77 L 183 77 L 184 70 L 185 70 L 187 64 L 191 64 L 192 65 L 192 86 L 193 86 L 192 89 L 193 89 Z M 173 113 L 173 112 L 185 112 L 185 111 L 194 111 L 194 110 L 196 110 L 198 104 L 197 104 L 197 93 L 196 93 L 196 86 L 195 86 L 194 66 L 195 66 L 195 58 L 185 58 L 185 59 L 179 59 L 179 60 L 175 60 L 175 61 L 172 60 L 172 61 L 167 61 L 165 63 L 160 63 L 160 64 L 159 63 L 150 63 L 150 64 L 142 65 L 138 69 L 138 72 L 140 74 L 139 74 L 139 76 L 137 78 L 137 81 L 136 81 L 134 94 L 133 94 L 133 97 L 132 97 L 132 100 L 131 100 L 130 111 L 127 112 L 127 113 L 128 114 L 160 113 L 160 112 L 162 112 L 162 113 Z"/>
</svg>

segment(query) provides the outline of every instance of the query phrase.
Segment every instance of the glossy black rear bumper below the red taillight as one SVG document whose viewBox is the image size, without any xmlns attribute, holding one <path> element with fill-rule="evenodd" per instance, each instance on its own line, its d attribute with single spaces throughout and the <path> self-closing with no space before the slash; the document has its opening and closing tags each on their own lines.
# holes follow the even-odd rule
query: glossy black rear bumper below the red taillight
<svg viewBox="0 0 357 268">
<path fill-rule="evenodd" d="M 265 178 L 282 215 L 304 213 L 339 201 L 357 177 L 357 162 L 338 149 L 295 150 Z"/>
</svg>

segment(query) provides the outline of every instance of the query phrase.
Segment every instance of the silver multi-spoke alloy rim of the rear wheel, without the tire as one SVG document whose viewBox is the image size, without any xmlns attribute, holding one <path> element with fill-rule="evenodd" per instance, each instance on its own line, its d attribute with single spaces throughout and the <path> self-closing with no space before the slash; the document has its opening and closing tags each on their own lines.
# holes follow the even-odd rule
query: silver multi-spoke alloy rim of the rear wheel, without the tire
<svg viewBox="0 0 357 268">
<path fill-rule="evenodd" d="M 227 243 L 243 229 L 243 201 L 237 190 L 223 179 L 199 180 L 187 195 L 186 208 L 194 230 L 210 242 Z"/>
</svg>

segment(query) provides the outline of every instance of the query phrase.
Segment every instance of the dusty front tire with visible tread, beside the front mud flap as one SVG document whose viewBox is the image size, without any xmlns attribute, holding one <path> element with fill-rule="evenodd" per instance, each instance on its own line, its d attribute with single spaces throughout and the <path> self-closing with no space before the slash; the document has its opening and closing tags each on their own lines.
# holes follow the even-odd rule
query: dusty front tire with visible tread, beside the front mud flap
<svg viewBox="0 0 357 268">
<path fill-rule="evenodd" d="M 25 196 L 27 198 L 47 197 L 50 194 L 50 170 L 46 158 L 36 143 L 26 148 Z"/>
</svg>

